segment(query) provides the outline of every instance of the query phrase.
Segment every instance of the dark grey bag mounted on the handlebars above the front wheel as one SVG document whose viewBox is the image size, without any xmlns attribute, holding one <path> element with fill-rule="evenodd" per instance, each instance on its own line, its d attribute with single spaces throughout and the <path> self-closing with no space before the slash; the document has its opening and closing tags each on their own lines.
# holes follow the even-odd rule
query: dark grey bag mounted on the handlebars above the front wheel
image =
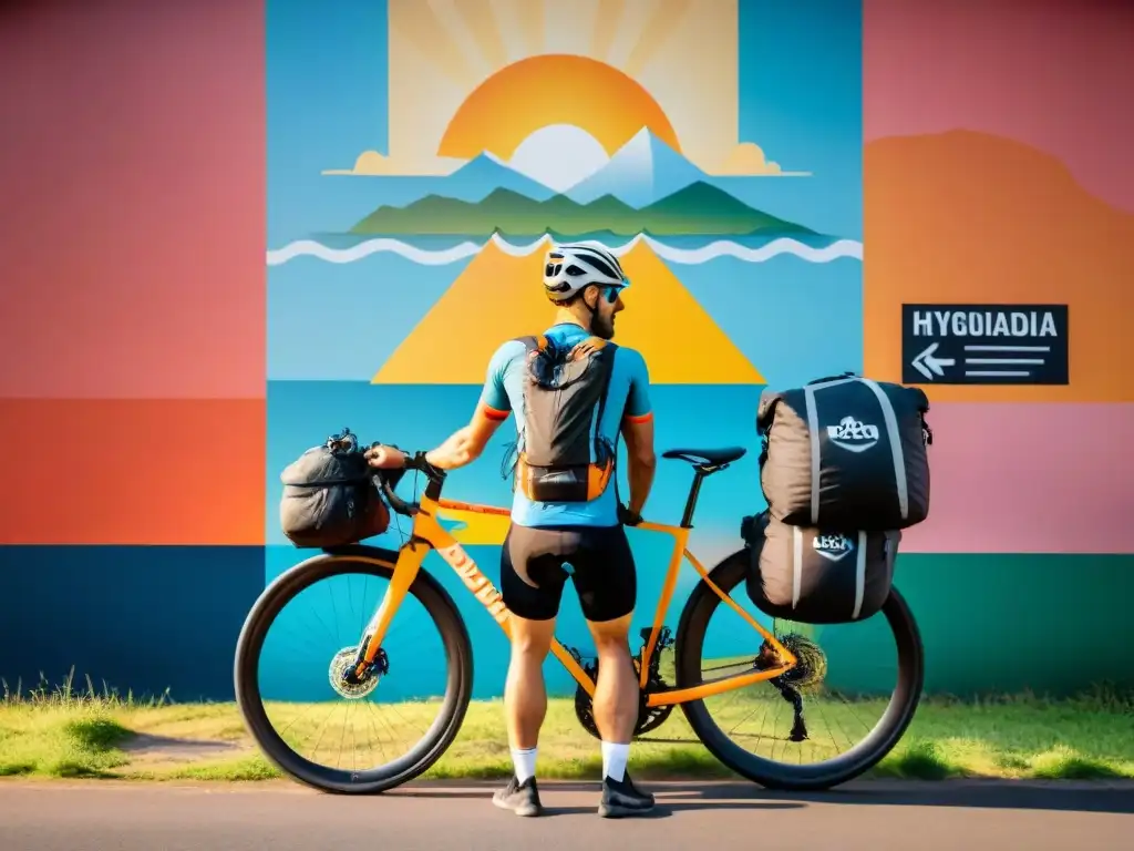
<svg viewBox="0 0 1134 851">
<path fill-rule="evenodd" d="M 280 525 L 297 547 L 340 547 L 384 532 L 390 511 L 356 443 L 336 436 L 280 474 Z M 344 444 L 350 448 L 342 448 Z"/>
</svg>

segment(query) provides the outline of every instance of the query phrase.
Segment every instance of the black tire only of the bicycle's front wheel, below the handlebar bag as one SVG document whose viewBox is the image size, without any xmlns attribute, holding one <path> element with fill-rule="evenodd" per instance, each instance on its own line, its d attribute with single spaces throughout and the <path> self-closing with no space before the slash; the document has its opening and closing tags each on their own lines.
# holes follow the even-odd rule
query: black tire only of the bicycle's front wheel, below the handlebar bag
<svg viewBox="0 0 1134 851">
<path fill-rule="evenodd" d="M 328 550 L 290 567 L 272 581 L 253 605 L 236 646 L 234 679 L 236 702 L 245 726 L 264 757 L 284 774 L 322 792 L 375 794 L 399 786 L 430 768 L 452 744 L 464 723 L 473 691 L 473 648 L 465 622 L 452 598 L 426 571 L 409 587 L 441 633 L 446 656 L 446 696 L 441 711 L 425 736 L 390 766 L 347 770 L 320 766 L 291 750 L 264 711 L 259 689 L 259 659 L 264 637 L 284 606 L 315 582 L 348 572 L 390 579 L 397 553 L 356 546 Z"/>
</svg>

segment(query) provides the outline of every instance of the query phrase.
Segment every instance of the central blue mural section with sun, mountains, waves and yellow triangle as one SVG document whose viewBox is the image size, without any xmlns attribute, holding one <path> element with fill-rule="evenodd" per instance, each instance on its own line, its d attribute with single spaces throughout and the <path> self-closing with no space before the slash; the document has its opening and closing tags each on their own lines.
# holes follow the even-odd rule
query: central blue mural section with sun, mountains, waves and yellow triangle
<svg viewBox="0 0 1134 851">
<path fill-rule="evenodd" d="M 552 239 L 620 255 L 632 284 L 616 342 L 649 365 L 659 450 L 752 446 L 765 386 L 862 369 L 856 5 L 390 0 L 335 16 L 268 6 L 266 580 L 310 556 L 279 529 L 279 471 L 342 426 L 420 448 L 464 426 L 496 348 L 552 323 Z M 332 99 L 318 120 L 313 89 Z M 510 505 L 514 438 L 508 422 L 446 496 Z M 661 462 L 648 515 L 676 523 L 689 475 Z M 703 489 L 694 549 L 708 564 L 739 548 L 756 481 L 753 453 Z M 381 539 L 396 548 L 408 525 Z M 496 580 L 505 531 L 480 521 L 455 537 Z M 672 541 L 635 530 L 632 546 L 640 627 Z M 480 658 L 506 658 L 445 562 L 426 566 Z M 567 597 L 557 634 L 593 655 Z M 319 620 L 342 605 L 328 595 Z M 277 688 L 299 667 L 301 650 L 280 647 L 262 672 Z M 548 668 L 552 688 L 574 688 Z M 498 666 L 477 667 L 475 693 L 502 685 Z"/>
</svg>

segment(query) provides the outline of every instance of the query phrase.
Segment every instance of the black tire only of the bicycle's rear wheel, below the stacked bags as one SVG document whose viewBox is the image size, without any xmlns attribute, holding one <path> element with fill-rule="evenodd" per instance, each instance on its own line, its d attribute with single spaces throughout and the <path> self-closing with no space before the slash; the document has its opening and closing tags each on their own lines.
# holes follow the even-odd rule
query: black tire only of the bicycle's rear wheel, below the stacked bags
<svg viewBox="0 0 1134 851">
<path fill-rule="evenodd" d="M 723 558 L 709 573 L 720 590 L 730 595 L 744 581 L 751 555 L 747 549 Z M 678 688 L 701 681 L 701 651 L 709 620 L 721 599 L 701 580 L 682 610 L 676 637 Z M 694 734 L 727 768 L 765 789 L 814 792 L 841 785 L 874 767 L 902 739 L 921 701 L 924 649 L 913 613 L 897 588 L 882 606 L 897 640 L 898 680 L 890 702 L 874 728 L 846 753 L 812 766 L 776 762 L 734 744 L 712 721 L 703 700 L 682 703 Z"/>
</svg>

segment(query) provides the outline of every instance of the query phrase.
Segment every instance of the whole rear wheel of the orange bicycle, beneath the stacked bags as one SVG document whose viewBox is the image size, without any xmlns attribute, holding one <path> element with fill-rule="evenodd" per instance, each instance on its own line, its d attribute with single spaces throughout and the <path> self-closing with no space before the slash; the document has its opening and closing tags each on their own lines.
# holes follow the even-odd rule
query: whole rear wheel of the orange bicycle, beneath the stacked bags
<svg viewBox="0 0 1134 851">
<path fill-rule="evenodd" d="M 750 558 L 746 549 L 734 553 L 709 578 L 770 627 L 799 665 L 682 710 L 717 759 L 762 786 L 818 791 L 846 783 L 889 753 L 913 719 L 924 679 L 917 624 L 896 588 L 882 610 L 862 622 L 769 624 L 745 592 Z M 675 648 L 679 688 L 777 663 L 763 637 L 721 603 L 702 580 L 685 605 Z"/>
</svg>

